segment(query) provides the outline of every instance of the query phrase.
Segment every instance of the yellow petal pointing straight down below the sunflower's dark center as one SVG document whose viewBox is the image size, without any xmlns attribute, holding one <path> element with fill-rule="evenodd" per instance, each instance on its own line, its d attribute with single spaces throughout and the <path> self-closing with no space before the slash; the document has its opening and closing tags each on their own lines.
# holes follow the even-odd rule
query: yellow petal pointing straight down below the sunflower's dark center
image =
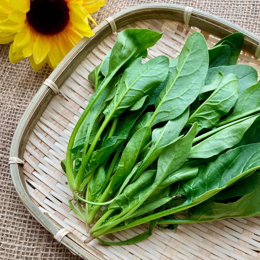
<svg viewBox="0 0 260 260">
<path fill-rule="evenodd" d="M 41 63 L 50 50 L 49 38 L 46 35 L 39 34 L 33 45 L 33 57 L 36 64 Z"/>
</svg>

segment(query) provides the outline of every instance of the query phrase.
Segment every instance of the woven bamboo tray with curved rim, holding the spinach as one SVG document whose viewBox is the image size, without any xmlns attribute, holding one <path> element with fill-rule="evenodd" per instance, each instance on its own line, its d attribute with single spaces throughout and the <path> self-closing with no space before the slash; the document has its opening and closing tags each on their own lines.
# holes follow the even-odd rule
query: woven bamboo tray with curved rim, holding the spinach
<svg viewBox="0 0 260 260">
<path fill-rule="evenodd" d="M 55 238 L 59 230 L 68 230 L 61 243 L 84 259 L 260 259 L 260 218 L 254 217 L 182 224 L 174 231 L 154 229 L 151 237 L 129 246 L 104 246 L 96 240 L 83 243 L 88 234 L 69 207 L 72 193 L 60 161 L 65 158 L 70 133 L 94 93 L 88 74 L 112 48 L 115 30 L 134 27 L 164 31 L 161 40 L 149 49 L 147 60 L 158 55 L 176 57 L 194 31 L 205 36 L 209 48 L 219 38 L 241 31 L 245 42 L 238 63 L 249 64 L 260 73 L 260 61 L 254 56 L 259 56 L 259 37 L 216 16 L 184 6 L 145 4 L 112 18 L 94 29 L 95 36 L 83 39 L 70 51 L 25 111 L 10 151 L 10 171 L 21 200 Z M 140 225 L 102 239 L 121 241 L 146 229 Z"/>
</svg>

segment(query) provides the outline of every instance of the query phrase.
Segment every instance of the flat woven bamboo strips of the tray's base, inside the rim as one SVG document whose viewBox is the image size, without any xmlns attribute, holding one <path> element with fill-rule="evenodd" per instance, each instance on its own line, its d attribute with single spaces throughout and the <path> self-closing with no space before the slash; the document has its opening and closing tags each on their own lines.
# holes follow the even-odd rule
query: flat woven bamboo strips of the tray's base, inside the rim
<svg viewBox="0 0 260 260">
<path fill-rule="evenodd" d="M 186 38 L 198 28 L 170 20 L 143 20 L 119 28 L 149 28 L 164 31 L 161 40 L 148 50 L 145 61 L 158 55 L 170 59 L 179 55 Z M 208 47 L 218 38 L 201 31 Z M 116 35 L 100 42 L 80 63 L 59 89 L 37 122 L 24 154 L 23 168 L 27 190 L 37 207 L 63 228 L 84 241 L 88 234 L 85 224 L 69 207 L 72 196 L 60 161 L 65 158 L 70 133 L 86 108 L 94 89 L 88 74 L 113 47 Z M 260 60 L 242 51 L 238 63 L 248 64 L 260 73 Z M 260 75 L 260 74 L 259 74 Z M 105 241 L 122 241 L 147 230 L 146 225 L 101 237 Z M 104 246 L 94 240 L 86 245 L 98 259 L 175 260 L 175 259 L 260 259 L 260 218 L 223 219 L 208 223 L 179 225 L 177 230 L 154 229 L 151 237 L 136 245 Z"/>
</svg>

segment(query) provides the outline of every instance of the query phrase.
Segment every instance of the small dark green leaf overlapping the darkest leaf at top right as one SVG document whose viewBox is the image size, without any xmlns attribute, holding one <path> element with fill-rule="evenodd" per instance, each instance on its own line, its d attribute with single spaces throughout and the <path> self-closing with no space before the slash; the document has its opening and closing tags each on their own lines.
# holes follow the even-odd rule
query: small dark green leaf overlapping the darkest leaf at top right
<svg viewBox="0 0 260 260">
<path fill-rule="evenodd" d="M 209 68 L 228 65 L 231 48 L 228 45 L 218 45 L 209 49 Z"/>
</svg>

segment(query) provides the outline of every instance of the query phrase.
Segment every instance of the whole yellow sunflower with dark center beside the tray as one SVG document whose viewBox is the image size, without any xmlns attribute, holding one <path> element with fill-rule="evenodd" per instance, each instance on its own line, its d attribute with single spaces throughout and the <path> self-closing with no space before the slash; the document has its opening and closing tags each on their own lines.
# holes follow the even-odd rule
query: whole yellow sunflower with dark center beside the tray
<svg viewBox="0 0 260 260">
<path fill-rule="evenodd" d="M 14 41 L 9 60 L 29 57 L 34 70 L 55 68 L 84 36 L 94 33 L 89 20 L 106 0 L 0 0 L 0 44 Z"/>
</svg>

